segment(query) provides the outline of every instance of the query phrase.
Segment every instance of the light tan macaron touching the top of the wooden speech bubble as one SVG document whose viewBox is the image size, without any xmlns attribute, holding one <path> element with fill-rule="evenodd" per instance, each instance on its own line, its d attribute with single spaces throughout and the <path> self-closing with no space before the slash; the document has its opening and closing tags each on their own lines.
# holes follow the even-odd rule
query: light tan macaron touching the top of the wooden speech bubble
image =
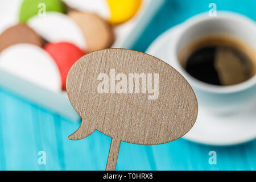
<svg viewBox="0 0 256 182">
<path fill-rule="evenodd" d="M 114 40 L 112 26 L 100 16 L 91 13 L 72 11 L 68 14 L 84 32 L 87 52 L 109 48 Z"/>
</svg>

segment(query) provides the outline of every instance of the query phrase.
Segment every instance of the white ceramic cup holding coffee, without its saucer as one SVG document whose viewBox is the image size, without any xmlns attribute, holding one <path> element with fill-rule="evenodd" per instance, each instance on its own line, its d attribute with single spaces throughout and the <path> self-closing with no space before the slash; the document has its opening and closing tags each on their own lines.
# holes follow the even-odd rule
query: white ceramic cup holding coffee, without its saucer
<svg viewBox="0 0 256 182">
<path fill-rule="evenodd" d="M 211 85 L 192 77 L 180 65 L 178 56 L 185 46 L 205 36 L 227 35 L 242 40 L 256 51 L 256 24 L 246 16 L 219 12 L 216 17 L 208 14 L 196 15 L 181 24 L 181 32 L 174 40 L 175 48 L 169 57 L 174 59 L 174 67 L 183 75 L 196 93 L 199 104 L 207 110 L 220 114 L 236 112 L 256 98 L 256 75 L 249 80 L 232 86 Z M 256 106 L 256 103 L 255 103 Z"/>
</svg>

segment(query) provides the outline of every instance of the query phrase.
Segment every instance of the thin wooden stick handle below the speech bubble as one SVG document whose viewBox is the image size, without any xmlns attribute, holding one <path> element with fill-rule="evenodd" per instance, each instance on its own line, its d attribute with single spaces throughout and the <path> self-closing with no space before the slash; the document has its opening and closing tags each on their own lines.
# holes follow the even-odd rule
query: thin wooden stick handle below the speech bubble
<svg viewBox="0 0 256 182">
<path fill-rule="evenodd" d="M 109 158 L 106 165 L 106 171 L 115 171 L 115 167 L 117 166 L 117 158 L 120 148 L 120 140 L 116 140 L 112 138 L 110 150 L 109 150 Z"/>
</svg>

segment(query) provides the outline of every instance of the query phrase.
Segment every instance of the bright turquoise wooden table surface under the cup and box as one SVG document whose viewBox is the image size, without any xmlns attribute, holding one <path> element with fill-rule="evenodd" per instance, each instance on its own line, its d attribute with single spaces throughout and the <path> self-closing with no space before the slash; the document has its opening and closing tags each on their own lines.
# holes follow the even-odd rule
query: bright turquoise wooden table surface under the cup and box
<svg viewBox="0 0 256 182">
<path fill-rule="evenodd" d="M 216 3 L 217 10 L 235 11 L 256 20 L 255 0 L 170 0 L 133 49 L 145 51 L 163 31 L 209 11 L 211 2 Z M 0 88 L 0 170 L 104 170 L 111 138 L 96 131 L 79 141 L 68 140 L 79 126 Z M 38 163 L 39 151 L 46 154 L 45 165 Z M 216 152 L 217 164 L 209 164 L 209 151 Z M 157 146 L 122 142 L 117 162 L 117 170 L 255 169 L 256 140 L 231 147 L 206 146 L 185 139 Z"/>
</svg>

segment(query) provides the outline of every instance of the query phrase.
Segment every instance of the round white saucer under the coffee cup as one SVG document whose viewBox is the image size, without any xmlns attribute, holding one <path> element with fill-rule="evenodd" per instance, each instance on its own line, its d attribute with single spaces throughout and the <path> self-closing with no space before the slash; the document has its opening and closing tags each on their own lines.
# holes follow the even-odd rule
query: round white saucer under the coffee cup
<svg viewBox="0 0 256 182">
<path fill-rule="evenodd" d="M 182 29 L 182 24 L 171 28 L 159 36 L 147 49 L 147 53 L 174 65 L 168 50 L 174 48 L 175 39 Z M 175 67 L 174 67 L 175 68 Z M 245 110 L 230 115 L 214 115 L 199 105 L 197 121 L 191 131 L 183 138 L 193 142 L 214 146 L 228 146 L 249 142 L 256 138 L 256 97 L 252 105 Z"/>
</svg>

